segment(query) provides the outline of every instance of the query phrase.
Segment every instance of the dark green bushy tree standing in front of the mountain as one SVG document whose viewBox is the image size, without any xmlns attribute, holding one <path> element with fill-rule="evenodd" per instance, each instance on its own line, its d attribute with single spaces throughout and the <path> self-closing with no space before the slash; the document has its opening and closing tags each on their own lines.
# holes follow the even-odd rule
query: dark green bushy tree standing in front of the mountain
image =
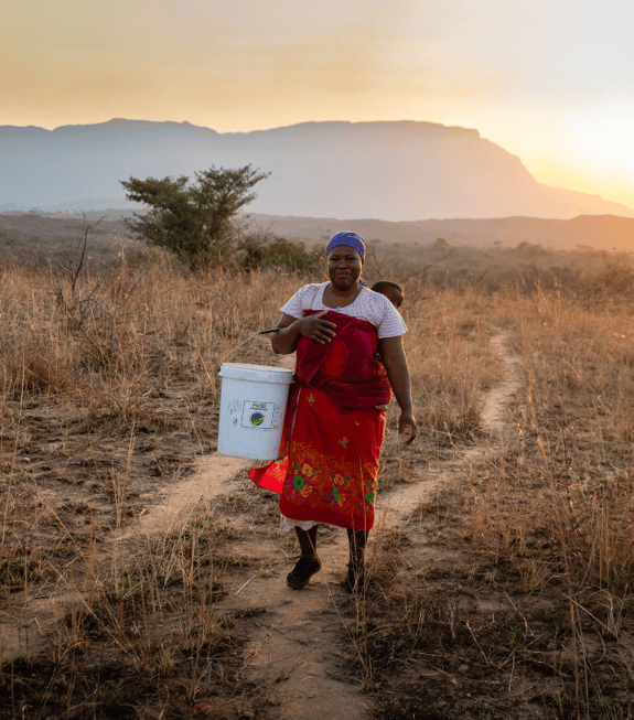
<svg viewBox="0 0 634 720">
<path fill-rule="evenodd" d="M 270 173 L 245 165 L 235 170 L 212 168 L 179 178 L 122 180 L 128 200 L 144 203 L 146 214 L 135 213 L 128 227 L 148 244 L 181 256 L 192 269 L 217 265 L 235 250 L 235 216 L 256 194 L 254 185 Z"/>
</svg>

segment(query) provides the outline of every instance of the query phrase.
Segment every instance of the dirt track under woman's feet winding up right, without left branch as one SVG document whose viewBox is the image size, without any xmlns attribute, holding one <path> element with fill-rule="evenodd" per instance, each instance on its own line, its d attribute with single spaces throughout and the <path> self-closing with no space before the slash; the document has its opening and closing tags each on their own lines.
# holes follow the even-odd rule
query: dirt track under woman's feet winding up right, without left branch
<svg viewBox="0 0 634 720">
<path fill-rule="evenodd" d="M 447 463 L 434 468 L 419 468 L 417 480 L 399 485 L 383 499 L 377 513 L 376 526 L 370 535 L 368 557 L 373 555 L 374 542 L 393 528 L 405 526 L 418 508 L 430 501 L 440 483 L 449 480 L 452 471 L 474 462 L 496 443 L 503 441 L 506 409 L 519 384 L 519 370 L 514 358 L 505 348 L 504 337 L 495 338 L 504 361 L 505 377 L 488 393 L 483 417 L 491 440 L 487 445 L 465 449 L 447 468 Z M 267 599 L 275 623 L 262 627 L 251 640 L 250 664 L 254 677 L 275 679 L 284 677 L 279 694 L 282 718 L 305 718 L 321 720 L 324 717 L 369 718 L 361 688 L 337 679 L 336 649 L 337 626 L 341 616 L 337 604 L 346 602 L 348 595 L 340 582 L 347 562 L 347 539 L 344 531 L 336 531 L 329 539 L 327 551 L 321 551 L 323 569 L 311 584 L 301 592 L 284 587 L 283 570 L 272 577 L 258 578 L 244 591 L 243 599 Z"/>
</svg>

